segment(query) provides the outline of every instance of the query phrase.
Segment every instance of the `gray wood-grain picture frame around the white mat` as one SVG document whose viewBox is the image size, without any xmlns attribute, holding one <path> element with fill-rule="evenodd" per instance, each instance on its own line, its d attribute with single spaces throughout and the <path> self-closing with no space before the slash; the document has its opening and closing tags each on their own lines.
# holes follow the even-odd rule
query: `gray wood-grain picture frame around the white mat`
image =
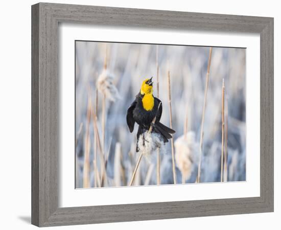
<svg viewBox="0 0 281 230">
<path fill-rule="evenodd" d="M 58 208 L 58 25 L 259 33 L 260 197 Z M 32 224 L 139 221 L 273 212 L 273 18 L 38 3 L 32 6 Z"/>
</svg>

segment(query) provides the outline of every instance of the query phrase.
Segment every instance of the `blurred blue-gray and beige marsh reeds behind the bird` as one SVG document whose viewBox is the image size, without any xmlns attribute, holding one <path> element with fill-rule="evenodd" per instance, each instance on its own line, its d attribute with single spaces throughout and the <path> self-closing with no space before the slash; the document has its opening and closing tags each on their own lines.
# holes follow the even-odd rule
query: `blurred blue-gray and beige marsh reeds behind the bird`
<svg viewBox="0 0 281 230">
<path fill-rule="evenodd" d="M 135 169 L 137 124 L 126 113 L 140 86 L 153 76 L 170 126 L 171 81 L 176 183 L 221 181 L 222 84 L 224 79 L 223 181 L 246 179 L 246 50 L 213 48 L 201 126 L 209 47 L 76 41 L 76 188 L 128 186 Z M 173 183 L 171 141 L 143 157 L 133 185 Z M 158 163 L 157 163 L 158 162 Z M 157 174 L 157 171 L 159 172 Z M 198 182 L 198 181 L 197 181 Z"/>
</svg>

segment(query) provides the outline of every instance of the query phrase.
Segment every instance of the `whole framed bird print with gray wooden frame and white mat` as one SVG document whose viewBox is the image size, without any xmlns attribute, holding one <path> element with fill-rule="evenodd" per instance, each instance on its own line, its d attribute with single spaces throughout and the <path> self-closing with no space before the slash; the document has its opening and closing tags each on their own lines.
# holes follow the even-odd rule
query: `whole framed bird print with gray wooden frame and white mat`
<svg viewBox="0 0 281 230">
<path fill-rule="evenodd" d="M 32 6 L 34 225 L 273 200 L 273 18 Z"/>
</svg>

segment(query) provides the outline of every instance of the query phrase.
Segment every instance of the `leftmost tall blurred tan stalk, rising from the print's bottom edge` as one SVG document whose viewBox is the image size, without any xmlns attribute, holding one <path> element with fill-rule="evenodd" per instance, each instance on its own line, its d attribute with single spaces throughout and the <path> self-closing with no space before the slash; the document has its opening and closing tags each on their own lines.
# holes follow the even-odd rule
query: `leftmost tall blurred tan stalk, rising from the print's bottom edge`
<svg viewBox="0 0 281 230">
<path fill-rule="evenodd" d="M 83 188 L 90 187 L 90 118 L 91 118 L 91 96 L 88 94 L 87 105 L 87 125 L 85 137 L 85 153 L 84 153 L 84 167 L 83 167 Z"/>
</svg>

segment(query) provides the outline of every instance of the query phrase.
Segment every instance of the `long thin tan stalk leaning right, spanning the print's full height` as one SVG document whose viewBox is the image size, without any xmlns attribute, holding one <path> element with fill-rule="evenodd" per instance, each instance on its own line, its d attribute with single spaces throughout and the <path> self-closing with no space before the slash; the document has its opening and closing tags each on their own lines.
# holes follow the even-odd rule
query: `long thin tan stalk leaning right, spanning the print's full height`
<svg viewBox="0 0 281 230">
<path fill-rule="evenodd" d="M 203 105 L 202 120 L 201 120 L 199 164 L 198 164 L 198 173 L 197 173 L 197 178 L 196 178 L 196 182 L 198 182 L 198 183 L 200 182 L 200 174 L 201 174 L 201 160 L 202 160 L 202 147 L 203 147 L 203 135 L 204 135 L 203 126 L 204 126 L 205 109 L 206 109 L 206 102 L 207 102 L 207 91 L 208 91 L 208 84 L 209 84 L 209 73 L 210 73 L 210 63 L 211 63 L 211 58 L 212 58 L 212 51 L 213 51 L 213 48 L 210 47 L 207 74 L 206 74 L 206 83 L 205 83 L 204 105 Z"/>
</svg>

